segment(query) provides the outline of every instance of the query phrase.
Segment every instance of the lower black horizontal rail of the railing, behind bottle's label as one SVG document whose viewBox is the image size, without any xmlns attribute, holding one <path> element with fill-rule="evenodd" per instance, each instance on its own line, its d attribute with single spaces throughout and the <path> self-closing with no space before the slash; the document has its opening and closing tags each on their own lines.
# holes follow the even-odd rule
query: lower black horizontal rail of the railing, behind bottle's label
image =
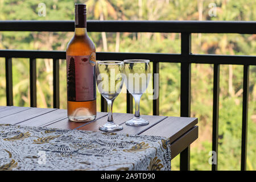
<svg viewBox="0 0 256 182">
<path fill-rule="evenodd" d="M 65 51 L 24 51 L 24 50 L 1 50 L 0 57 L 16 57 L 38 59 L 66 59 Z M 182 55 L 178 53 L 124 53 L 124 52 L 97 52 L 98 60 L 124 60 L 148 59 L 152 62 L 169 63 L 199 63 L 199 64 L 238 64 L 238 65 L 256 65 L 256 56 L 240 55 Z"/>
</svg>

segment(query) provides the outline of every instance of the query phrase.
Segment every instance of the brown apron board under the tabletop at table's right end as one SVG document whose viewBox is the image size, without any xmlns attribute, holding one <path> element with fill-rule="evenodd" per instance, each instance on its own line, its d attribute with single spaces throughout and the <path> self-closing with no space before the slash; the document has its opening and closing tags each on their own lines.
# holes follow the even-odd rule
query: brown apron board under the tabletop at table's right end
<svg viewBox="0 0 256 182">
<path fill-rule="evenodd" d="M 177 140 L 171 143 L 171 159 L 174 159 L 180 152 L 185 150 L 191 143 L 198 138 L 198 126 L 193 126 Z"/>
</svg>

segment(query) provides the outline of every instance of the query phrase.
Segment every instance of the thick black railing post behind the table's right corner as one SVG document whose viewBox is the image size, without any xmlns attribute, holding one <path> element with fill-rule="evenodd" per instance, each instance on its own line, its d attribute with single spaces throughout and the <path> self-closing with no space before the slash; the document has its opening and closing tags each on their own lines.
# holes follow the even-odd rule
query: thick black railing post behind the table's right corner
<svg viewBox="0 0 256 182">
<path fill-rule="evenodd" d="M 189 63 L 189 54 L 191 54 L 191 34 L 181 33 L 181 63 L 180 72 L 180 116 L 190 117 L 191 104 L 191 63 Z M 190 169 L 190 146 L 180 153 L 180 170 L 189 171 Z"/>
</svg>

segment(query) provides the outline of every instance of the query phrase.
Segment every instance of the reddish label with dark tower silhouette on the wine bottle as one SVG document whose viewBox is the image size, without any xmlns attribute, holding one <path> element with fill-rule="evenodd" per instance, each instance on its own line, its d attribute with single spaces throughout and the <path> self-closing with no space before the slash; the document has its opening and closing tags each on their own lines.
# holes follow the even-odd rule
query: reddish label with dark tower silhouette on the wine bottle
<svg viewBox="0 0 256 182">
<path fill-rule="evenodd" d="M 68 101 L 92 101 L 96 99 L 96 54 L 89 56 L 67 55 Z"/>
</svg>

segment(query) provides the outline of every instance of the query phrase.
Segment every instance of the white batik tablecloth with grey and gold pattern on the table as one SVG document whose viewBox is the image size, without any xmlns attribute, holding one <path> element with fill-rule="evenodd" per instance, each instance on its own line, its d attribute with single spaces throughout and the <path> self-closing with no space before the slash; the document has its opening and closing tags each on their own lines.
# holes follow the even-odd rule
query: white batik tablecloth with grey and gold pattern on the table
<svg viewBox="0 0 256 182">
<path fill-rule="evenodd" d="M 164 137 L 0 125 L 0 171 L 170 169 Z"/>
</svg>

